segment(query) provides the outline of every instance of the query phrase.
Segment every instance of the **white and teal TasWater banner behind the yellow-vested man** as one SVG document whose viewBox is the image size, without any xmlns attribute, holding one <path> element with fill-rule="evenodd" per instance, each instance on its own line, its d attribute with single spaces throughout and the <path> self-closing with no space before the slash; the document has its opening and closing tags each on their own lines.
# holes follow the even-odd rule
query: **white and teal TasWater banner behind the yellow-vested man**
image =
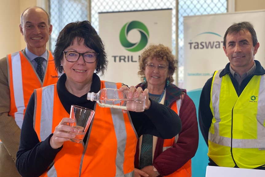
<svg viewBox="0 0 265 177">
<path fill-rule="evenodd" d="M 197 113 L 205 82 L 229 62 L 223 51 L 223 36 L 229 26 L 243 21 L 254 26 L 260 43 L 255 60 L 265 66 L 264 10 L 184 17 L 184 88 L 195 103 Z M 207 153 L 208 147 L 200 133 L 199 146 L 192 158 L 193 177 L 205 176 Z"/>
</svg>

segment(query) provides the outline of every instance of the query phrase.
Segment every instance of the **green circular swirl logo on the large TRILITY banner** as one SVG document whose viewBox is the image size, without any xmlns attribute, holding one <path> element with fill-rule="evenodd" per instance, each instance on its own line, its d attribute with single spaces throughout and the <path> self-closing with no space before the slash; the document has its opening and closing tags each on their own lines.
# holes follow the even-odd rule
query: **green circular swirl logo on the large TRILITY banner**
<svg viewBox="0 0 265 177">
<path fill-rule="evenodd" d="M 139 31 L 141 38 L 139 42 L 131 43 L 128 41 L 127 36 L 128 36 L 128 33 L 134 29 Z M 130 52 L 138 52 L 142 50 L 147 45 L 148 38 L 149 38 L 149 32 L 148 32 L 147 27 L 142 22 L 139 22 L 139 21 L 132 21 L 132 22 L 126 23 L 121 28 L 121 31 L 120 31 L 121 45 Z"/>
</svg>

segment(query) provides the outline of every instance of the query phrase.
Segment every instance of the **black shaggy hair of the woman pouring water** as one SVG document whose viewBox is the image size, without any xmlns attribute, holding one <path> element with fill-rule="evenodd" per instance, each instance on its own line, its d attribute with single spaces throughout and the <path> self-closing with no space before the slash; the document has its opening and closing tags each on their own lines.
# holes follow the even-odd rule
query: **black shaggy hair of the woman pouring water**
<svg viewBox="0 0 265 177">
<path fill-rule="evenodd" d="M 96 30 L 91 26 L 90 22 L 86 20 L 69 23 L 59 33 L 53 53 L 56 70 L 63 73 L 63 68 L 61 67 L 63 51 L 67 47 L 73 45 L 75 38 L 77 38 L 78 43 L 81 39 L 84 39 L 84 45 L 98 53 L 96 74 L 101 73 L 101 75 L 104 75 L 108 66 L 105 48 Z"/>
</svg>

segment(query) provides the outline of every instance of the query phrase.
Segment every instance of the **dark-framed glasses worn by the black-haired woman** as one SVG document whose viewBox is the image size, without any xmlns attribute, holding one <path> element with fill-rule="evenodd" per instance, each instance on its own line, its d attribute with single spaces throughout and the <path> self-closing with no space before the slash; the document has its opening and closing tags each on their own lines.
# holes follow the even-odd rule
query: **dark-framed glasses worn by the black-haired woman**
<svg viewBox="0 0 265 177">
<path fill-rule="evenodd" d="M 63 51 L 63 53 L 65 54 L 65 59 L 69 62 L 77 62 L 82 55 L 85 62 L 93 63 L 96 61 L 98 55 L 96 52 L 78 53 L 75 51 Z"/>
</svg>

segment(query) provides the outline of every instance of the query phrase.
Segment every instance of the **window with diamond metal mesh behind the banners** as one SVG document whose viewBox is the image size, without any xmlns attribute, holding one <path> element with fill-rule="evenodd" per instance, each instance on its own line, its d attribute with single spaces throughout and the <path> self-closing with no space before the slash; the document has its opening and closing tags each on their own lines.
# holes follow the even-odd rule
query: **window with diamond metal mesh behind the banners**
<svg viewBox="0 0 265 177">
<path fill-rule="evenodd" d="M 178 14 L 176 14 L 177 3 Z M 184 82 L 183 16 L 225 13 L 227 12 L 227 0 L 178 0 L 177 2 L 176 0 L 49 0 L 49 14 L 53 25 L 49 41 L 50 50 L 54 50 L 59 32 L 70 22 L 89 20 L 88 16 L 90 16 L 90 22 L 98 32 L 99 12 L 155 9 L 172 9 L 172 53 L 176 55 L 177 50 L 176 59 L 178 60 L 175 84 L 182 88 Z M 176 31 L 177 16 L 178 31 Z M 176 42 L 176 34 L 178 42 Z"/>
</svg>

